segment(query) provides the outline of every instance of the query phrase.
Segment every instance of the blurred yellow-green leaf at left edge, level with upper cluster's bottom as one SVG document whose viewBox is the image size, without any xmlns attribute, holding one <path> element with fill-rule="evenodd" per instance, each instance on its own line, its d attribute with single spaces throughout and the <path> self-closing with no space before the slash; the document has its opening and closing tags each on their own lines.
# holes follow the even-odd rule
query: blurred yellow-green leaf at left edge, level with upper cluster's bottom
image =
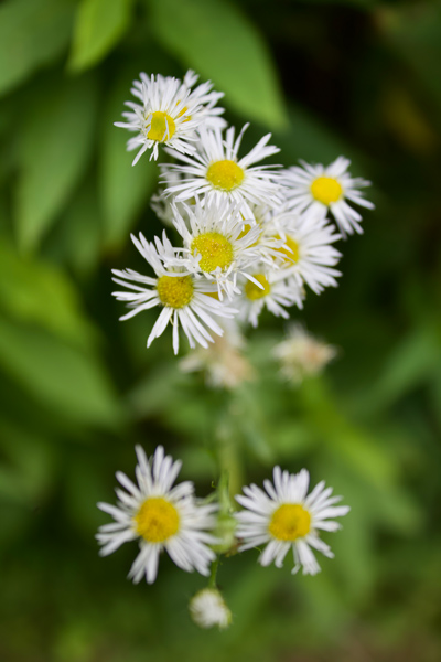
<svg viewBox="0 0 441 662">
<path fill-rule="evenodd" d="M 0 308 L 18 320 L 40 324 L 83 346 L 89 346 L 95 335 L 67 275 L 43 261 L 20 258 L 2 241 Z"/>
</svg>

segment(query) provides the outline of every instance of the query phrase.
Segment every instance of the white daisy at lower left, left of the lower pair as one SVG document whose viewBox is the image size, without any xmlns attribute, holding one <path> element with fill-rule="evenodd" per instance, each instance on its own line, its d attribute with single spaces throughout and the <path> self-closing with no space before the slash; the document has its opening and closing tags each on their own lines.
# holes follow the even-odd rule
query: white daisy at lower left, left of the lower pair
<svg viewBox="0 0 441 662">
<path fill-rule="evenodd" d="M 116 490 L 117 505 L 98 503 L 98 508 L 115 520 L 99 527 L 96 537 L 103 545 L 100 555 L 107 556 L 122 543 L 138 540 L 140 552 L 129 573 L 135 584 L 143 576 L 153 584 L 163 549 L 183 570 L 208 575 L 208 566 L 216 558 L 207 546 L 217 542 L 207 533 L 216 525 L 213 514 L 216 504 L 198 505 L 193 496 L 193 483 L 189 481 L 172 487 L 182 462 L 164 457 L 162 446 L 150 460 L 140 446 L 136 451 L 138 484 L 118 471 L 117 479 L 125 490 Z"/>
</svg>

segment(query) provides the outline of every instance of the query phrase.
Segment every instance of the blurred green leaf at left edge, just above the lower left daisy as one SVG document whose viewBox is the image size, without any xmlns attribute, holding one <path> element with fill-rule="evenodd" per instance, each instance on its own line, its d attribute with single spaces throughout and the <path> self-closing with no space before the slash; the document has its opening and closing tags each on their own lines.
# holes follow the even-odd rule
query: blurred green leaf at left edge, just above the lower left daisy
<svg viewBox="0 0 441 662">
<path fill-rule="evenodd" d="M 98 357 L 45 331 L 0 318 L 0 365 L 57 415 L 105 427 L 121 421 L 120 405 Z"/>
</svg>

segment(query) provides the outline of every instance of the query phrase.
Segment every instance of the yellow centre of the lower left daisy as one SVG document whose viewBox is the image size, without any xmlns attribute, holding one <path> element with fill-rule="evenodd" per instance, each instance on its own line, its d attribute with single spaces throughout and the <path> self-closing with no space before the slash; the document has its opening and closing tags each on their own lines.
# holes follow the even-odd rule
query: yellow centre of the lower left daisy
<svg viewBox="0 0 441 662">
<path fill-rule="evenodd" d="M 133 519 L 137 533 L 149 543 L 163 543 L 176 533 L 180 525 L 176 509 L 162 496 L 146 499 Z"/>
</svg>

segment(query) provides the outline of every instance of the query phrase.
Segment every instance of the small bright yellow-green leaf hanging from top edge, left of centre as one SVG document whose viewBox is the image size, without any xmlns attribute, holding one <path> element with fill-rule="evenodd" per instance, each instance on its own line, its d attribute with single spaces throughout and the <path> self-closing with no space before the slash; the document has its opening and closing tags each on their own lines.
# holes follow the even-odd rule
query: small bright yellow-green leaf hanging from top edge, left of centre
<svg viewBox="0 0 441 662">
<path fill-rule="evenodd" d="M 129 26 L 132 0 L 82 0 L 68 66 L 83 71 L 103 60 Z"/>
</svg>

